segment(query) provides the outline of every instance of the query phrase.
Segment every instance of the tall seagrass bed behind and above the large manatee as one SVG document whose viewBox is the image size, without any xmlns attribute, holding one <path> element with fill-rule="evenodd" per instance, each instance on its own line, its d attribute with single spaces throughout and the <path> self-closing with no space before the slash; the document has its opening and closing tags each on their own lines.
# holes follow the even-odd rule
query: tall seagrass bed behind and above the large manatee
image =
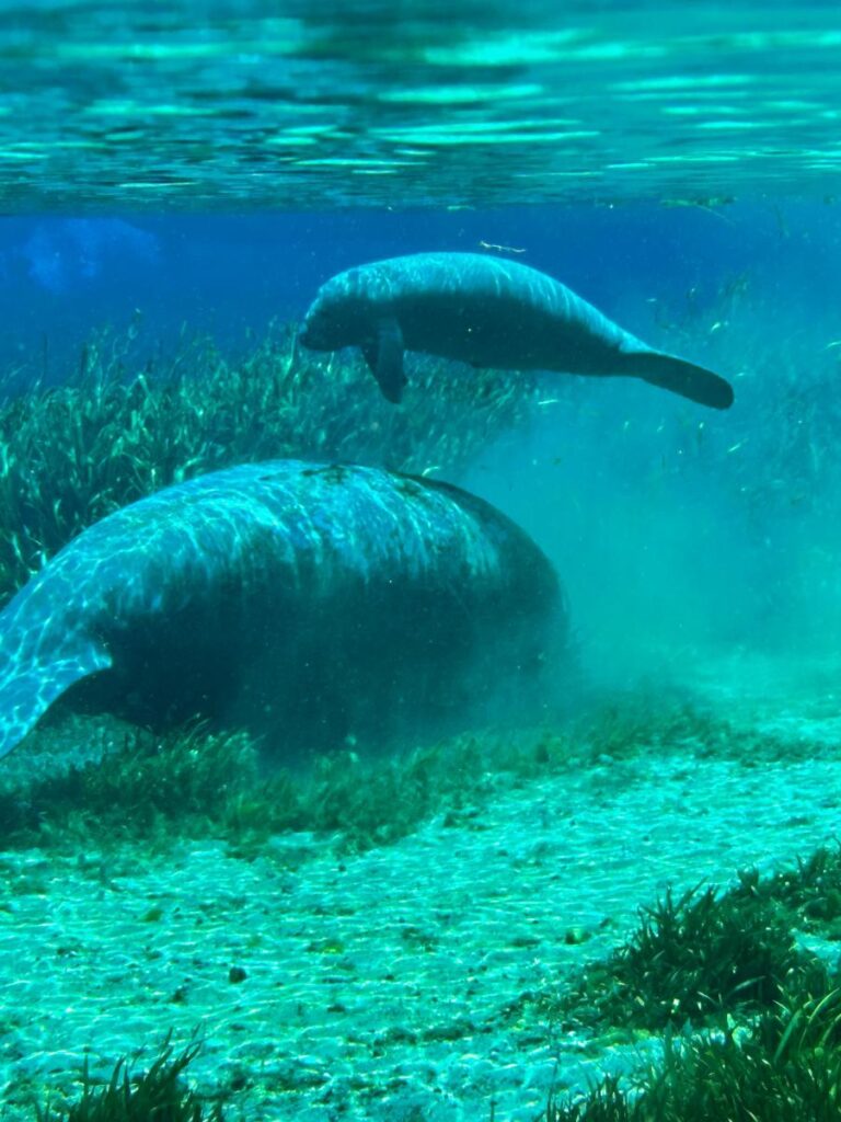
<svg viewBox="0 0 841 1122">
<path fill-rule="evenodd" d="M 101 333 L 61 385 L 0 406 L 0 603 L 91 523 L 216 468 L 301 457 L 452 478 L 525 421 L 530 389 L 499 371 L 466 386 L 419 360 L 395 410 L 358 355 L 316 357 L 292 327 L 238 360 L 186 337 L 170 358 L 141 360 L 132 332 Z M 454 426 L 453 404 L 468 395 L 470 423 Z"/>
</svg>

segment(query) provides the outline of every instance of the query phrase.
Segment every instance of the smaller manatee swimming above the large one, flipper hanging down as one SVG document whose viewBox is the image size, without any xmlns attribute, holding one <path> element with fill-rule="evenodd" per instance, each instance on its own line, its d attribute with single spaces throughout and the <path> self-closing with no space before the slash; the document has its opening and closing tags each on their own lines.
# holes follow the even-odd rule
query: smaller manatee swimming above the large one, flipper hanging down
<svg viewBox="0 0 841 1122">
<path fill-rule="evenodd" d="M 305 347 L 361 347 L 383 395 L 399 402 L 404 350 L 475 367 L 628 375 L 726 410 L 729 383 L 654 350 L 558 280 L 481 254 L 414 254 L 340 273 L 322 285 Z"/>
</svg>

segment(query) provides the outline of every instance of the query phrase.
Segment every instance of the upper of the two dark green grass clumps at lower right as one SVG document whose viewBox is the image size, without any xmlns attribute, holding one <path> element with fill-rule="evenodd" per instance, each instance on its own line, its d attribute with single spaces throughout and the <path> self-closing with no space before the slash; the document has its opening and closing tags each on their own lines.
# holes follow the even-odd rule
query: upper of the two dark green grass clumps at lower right
<svg viewBox="0 0 841 1122">
<path fill-rule="evenodd" d="M 793 932 L 835 937 L 839 916 L 841 847 L 820 847 L 767 876 L 741 871 L 723 893 L 693 888 L 675 898 L 668 890 L 640 909 L 621 946 L 548 1005 L 574 1024 L 646 1030 L 761 1011 L 786 993 L 825 991 L 825 965 Z"/>
</svg>

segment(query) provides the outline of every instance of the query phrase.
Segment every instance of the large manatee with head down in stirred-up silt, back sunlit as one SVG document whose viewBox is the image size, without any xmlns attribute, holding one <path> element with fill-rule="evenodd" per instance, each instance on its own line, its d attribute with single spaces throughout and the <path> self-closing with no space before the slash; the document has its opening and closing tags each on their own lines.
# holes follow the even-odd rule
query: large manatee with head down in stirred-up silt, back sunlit
<svg viewBox="0 0 841 1122">
<path fill-rule="evenodd" d="M 0 614 L 0 755 L 71 688 L 87 708 L 158 727 L 201 714 L 292 749 L 382 739 L 526 686 L 565 618 L 540 550 L 465 491 L 232 468 L 89 527 Z"/>
</svg>

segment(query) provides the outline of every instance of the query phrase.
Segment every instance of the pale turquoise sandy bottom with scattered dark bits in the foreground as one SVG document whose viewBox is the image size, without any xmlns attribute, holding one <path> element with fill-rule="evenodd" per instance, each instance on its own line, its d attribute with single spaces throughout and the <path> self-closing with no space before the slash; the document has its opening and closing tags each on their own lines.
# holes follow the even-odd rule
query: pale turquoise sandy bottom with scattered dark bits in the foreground
<svg viewBox="0 0 841 1122">
<path fill-rule="evenodd" d="M 191 1076 L 233 1088 L 229 1119 L 455 1122 L 493 1103 L 530 1122 L 553 1086 L 586 1086 L 643 1048 L 563 1037 L 524 997 L 621 941 L 667 885 L 724 885 L 834 837 L 833 681 L 737 659 L 696 686 L 741 725 L 807 738 L 811 758 L 691 744 L 604 757 L 501 783 L 460 825 L 358 857 L 308 834 L 251 862 L 215 840 L 0 854 L 3 1118 L 30 1119 L 45 1087 L 75 1094 L 85 1055 L 110 1074 L 173 1029 L 179 1046 L 201 1033 Z"/>
</svg>

